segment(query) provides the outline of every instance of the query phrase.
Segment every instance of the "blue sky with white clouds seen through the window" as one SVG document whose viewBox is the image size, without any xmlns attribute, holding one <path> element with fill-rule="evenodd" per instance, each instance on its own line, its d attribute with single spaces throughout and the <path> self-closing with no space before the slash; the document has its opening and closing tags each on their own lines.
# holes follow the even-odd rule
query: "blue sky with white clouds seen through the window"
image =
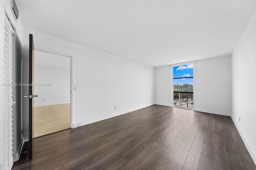
<svg viewBox="0 0 256 170">
<path fill-rule="evenodd" d="M 186 77 L 193 77 L 193 64 L 180 65 L 173 67 L 173 78 L 184 77 L 183 79 L 173 79 L 174 84 L 193 84 L 193 78 L 186 79 Z"/>
</svg>

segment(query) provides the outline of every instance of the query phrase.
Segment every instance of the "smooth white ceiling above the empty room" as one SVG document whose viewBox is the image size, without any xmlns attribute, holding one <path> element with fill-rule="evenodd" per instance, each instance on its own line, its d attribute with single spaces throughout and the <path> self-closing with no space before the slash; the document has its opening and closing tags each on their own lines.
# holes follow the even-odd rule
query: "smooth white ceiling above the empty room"
<svg viewBox="0 0 256 170">
<path fill-rule="evenodd" d="M 256 9 L 255 0 L 16 4 L 26 28 L 154 67 L 230 55 Z"/>
</svg>

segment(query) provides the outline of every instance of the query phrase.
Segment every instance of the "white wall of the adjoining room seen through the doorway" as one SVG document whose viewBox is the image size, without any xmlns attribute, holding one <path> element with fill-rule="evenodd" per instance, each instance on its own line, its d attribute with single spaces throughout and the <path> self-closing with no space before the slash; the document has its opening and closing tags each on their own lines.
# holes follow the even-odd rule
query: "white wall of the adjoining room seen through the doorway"
<svg viewBox="0 0 256 170">
<path fill-rule="evenodd" d="M 70 57 L 35 50 L 34 106 L 70 103 Z M 47 84 L 50 83 L 50 86 Z"/>
</svg>

